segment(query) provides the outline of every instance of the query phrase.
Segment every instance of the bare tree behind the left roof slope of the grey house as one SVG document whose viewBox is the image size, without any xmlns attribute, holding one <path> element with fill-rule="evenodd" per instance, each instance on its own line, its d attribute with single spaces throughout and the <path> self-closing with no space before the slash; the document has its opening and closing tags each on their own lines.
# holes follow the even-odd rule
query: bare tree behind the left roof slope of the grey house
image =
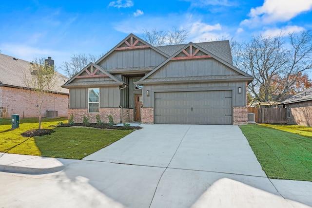
<svg viewBox="0 0 312 208">
<path fill-rule="evenodd" d="M 95 55 L 85 55 L 85 54 L 74 54 L 71 57 L 70 61 L 64 61 L 61 69 L 65 71 L 66 76 L 73 77 L 78 72 L 80 72 L 85 66 L 87 66 L 90 62 L 96 62 L 100 57 L 104 56 L 101 54 L 99 56 Z"/>
</svg>

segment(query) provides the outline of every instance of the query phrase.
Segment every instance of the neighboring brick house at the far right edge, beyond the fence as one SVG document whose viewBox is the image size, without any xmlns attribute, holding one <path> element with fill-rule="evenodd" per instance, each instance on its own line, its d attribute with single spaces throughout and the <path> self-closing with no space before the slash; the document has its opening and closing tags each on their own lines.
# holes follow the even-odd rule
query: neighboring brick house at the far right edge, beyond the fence
<svg viewBox="0 0 312 208">
<path fill-rule="evenodd" d="M 288 124 L 312 126 L 312 87 L 282 102 L 288 109 Z"/>
</svg>

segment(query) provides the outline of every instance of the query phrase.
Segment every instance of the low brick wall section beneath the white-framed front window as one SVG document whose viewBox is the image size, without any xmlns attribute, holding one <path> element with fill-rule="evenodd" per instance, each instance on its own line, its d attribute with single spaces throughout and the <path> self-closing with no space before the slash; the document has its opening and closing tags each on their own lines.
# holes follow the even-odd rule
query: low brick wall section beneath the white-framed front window
<svg viewBox="0 0 312 208">
<path fill-rule="evenodd" d="M 121 108 L 100 108 L 98 113 L 88 113 L 87 108 L 68 109 L 68 119 L 71 114 L 74 115 L 75 123 L 83 122 L 83 115 L 89 117 L 90 123 L 97 122 L 97 114 L 100 115 L 100 119 L 103 123 L 109 123 L 108 115 L 113 116 L 114 123 L 120 123 Z"/>
</svg>

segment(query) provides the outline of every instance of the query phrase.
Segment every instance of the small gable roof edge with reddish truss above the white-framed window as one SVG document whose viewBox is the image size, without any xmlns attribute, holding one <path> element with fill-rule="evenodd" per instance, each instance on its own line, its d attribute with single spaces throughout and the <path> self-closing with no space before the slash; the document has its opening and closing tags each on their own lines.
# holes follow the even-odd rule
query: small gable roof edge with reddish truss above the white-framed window
<svg viewBox="0 0 312 208">
<path fill-rule="evenodd" d="M 88 71 L 88 68 L 89 67 L 91 67 L 91 68 L 93 68 L 93 67 L 95 67 L 96 68 L 96 70 L 95 70 L 95 72 L 91 72 L 91 73 L 93 73 L 93 74 L 91 74 L 89 71 Z M 95 75 L 95 73 L 97 72 L 97 71 L 100 71 L 102 74 L 103 74 L 103 76 L 107 76 L 107 77 L 110 77 L 111 78 L 111 80 L 106 80 L 106 81 L 92 81 L 92 82 L 83 82 L 83 84 L 81 84 L 81 83 L 75 83 L 75 82 L 73 82 L 75 79 L 77 79 L 77 78 L 87 78 L 87 77 L 89 77 L 89 78 L 92 78 L 92 77 L 100 77 L 101 75 Z M 81 76 L 81 74 L 83 74 L 84 72 L 87 72 L 87 74 L 89 75 L 89 76 Z M 62 85 L 62 87 L 64 87 L 64 88 L 71 88 L 71 87 L 81 87 L 81 86 L 88 86 L 88 85 L 92 85 L 92 86 L 96 86 L 96 85 L 101 85 L 101 86 L 103 86 L 103 85 L 117 85 L 117 86 L 120 86 L 120 85 L 125 85 L 125 83 L 122 81 L 122 80 L 120 80 L 120 79 L 118 79 L 116 76 L 114 76 L 114 75 L 111 75 L 110 73 L 108 73 L 108 72 L 106 72 L 102 67 L 100 67 L 99 65 L 97 65 L 97 64 L 95 64 L 95 63 L 89 63 L 86 67 L 84 67 L 80 72 L 78 72 L 75 76 L 73 76 L 70 80 L 68 80 L 64 85 Z"/>
</svg>

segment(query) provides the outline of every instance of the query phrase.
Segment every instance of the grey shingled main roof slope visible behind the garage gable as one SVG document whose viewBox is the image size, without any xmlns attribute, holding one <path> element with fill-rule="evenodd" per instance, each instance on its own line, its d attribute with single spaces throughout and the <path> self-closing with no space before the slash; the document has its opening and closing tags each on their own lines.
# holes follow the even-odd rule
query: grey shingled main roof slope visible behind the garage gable
<svg viewBox="0 0 312 208">
<path fill-rule="evenodd" d="M 165 46 L 158 46 L 156 48 L 168 54 L 169 56 L 172 56 L 177 51 L 181 50 L 181 48 L 183 48 L 183 46 L 185 45 L 186 44 L 165 45 Z M 213 53 L 215 56 L 220 57 L 221 59 L 233 65 L 233 58 L 231 54 L 231 47 L 230 47 L 229 40 L 200 42 L 200 43 L 195 43 L 195 45 L 205 49 L 206 51 Z"/>
</svg>

